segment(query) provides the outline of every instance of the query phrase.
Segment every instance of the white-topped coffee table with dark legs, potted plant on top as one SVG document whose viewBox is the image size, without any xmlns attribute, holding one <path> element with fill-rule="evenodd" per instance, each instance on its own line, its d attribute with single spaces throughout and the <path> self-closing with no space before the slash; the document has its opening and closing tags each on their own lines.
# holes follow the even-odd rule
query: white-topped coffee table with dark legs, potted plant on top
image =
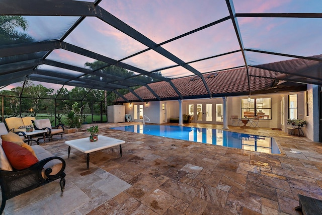
<svg viewBox="0 0 322 215">
<path fill-rule="evenodd" d="M 121 144 L 124 144 L 124 143 L 125 143 L 124 140 L 115 139 L 115 138 L 103 136 L 103 135 L 99 135 L 98 140 L 95 142 L 91 142 L 90 137 L 65 141 L 65 144 L 68 145 L 68 158 L 70 154 L 70 147 L 87 154 L 87 158 L 86 158 L 87 169 L 89 169 L 89 165 L 90 165 L 91 152 L 96 152 L 99 150 L 120 145 L 120 155 L 122 157 Z"/>
</svg>

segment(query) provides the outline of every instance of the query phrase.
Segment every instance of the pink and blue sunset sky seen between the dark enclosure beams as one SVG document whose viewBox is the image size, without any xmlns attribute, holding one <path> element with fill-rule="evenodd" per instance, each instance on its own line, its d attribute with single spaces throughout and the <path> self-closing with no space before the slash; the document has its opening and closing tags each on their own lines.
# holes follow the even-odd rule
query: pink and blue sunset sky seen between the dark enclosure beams
<svg viewBox="0 0 322 215">
<path fill-rule="evenodd" d="M 233 1 L 236 13 L 321 13 L 320 0 L 248 0 Z M 100 7 L 134 28 L 156 44 L 162 43 L 201 26 L 229 16 L 224 0 L 103 0 Z M 78 17 L 25 16 L 27 33 L 36 41 L 60 39 Z M 245 48 L 292 55 L 322 54 L 322 19 L 312 18 L 244 18 L 238 17 L 241 39 Z M 87 17 L 64 40 L 67 43 L 105 55 L 123 59 L 147 47 L 130 36 L 95 17 Z M 240 49 L 231 20 L 162 45 L 163 48 L 189 63 L 194 60 Z M 258 65 L 289 59 L 287 57 L 246 51 L 247 63 Z M 66 50 L 52 51 L 48 59 L 84 67 L 95 59 Z M 153 71 L 161 69 L 163 76 L 179 78 L 194 75 L 172 60 L 149 50 L 122 62 Z M 211 71 L 245 65 L 241 52 L 211 58 L 190 65 L 200 71 Z M 42 69 L 60 68 L 41 65 Z"/>
</svg>

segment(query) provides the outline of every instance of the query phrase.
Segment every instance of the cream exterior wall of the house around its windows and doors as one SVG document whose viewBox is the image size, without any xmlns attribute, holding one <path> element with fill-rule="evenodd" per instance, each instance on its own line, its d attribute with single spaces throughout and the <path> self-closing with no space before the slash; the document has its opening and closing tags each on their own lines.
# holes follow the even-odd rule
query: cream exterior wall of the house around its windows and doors
<svg viewBox="0 0 322 215">
<path fill-rule="evenodd" d="M 307 121 L 307 126 L 303 128 L 304 135 L 313 141 L 319 141 L 319 117 L 318 117 L 318 86 L 308 85 L 308 107 L 309 114 L 306 116 L 306 92 L 294 92 L 287 94 L 265 94 L 265 95 L 252 95 L 252 99 L 256 98 L 271 98 L 272 119 L 260 119 L 259 126 L 265 128 L 281 128 L 284 132 L 288 132 L 287 124 L 288 119 L 288 95 L 297 94 L 297 113 L 299 119 Z M 227 102 L 227 121 L 228 127 L 231 125 L 231 115 L 241 116 L 241 99 L 247 99 L 248 96 L 228 97 Z M 284 99 L 283 99 L 284 98 Z M 222 98 L 209 99 L 191 99 L 183 100 L 182 113 L 188 113 L 189 104 L 214 104 L 213 117 L 216 111 L 215 104 L 223 103 Z M 170 121 L 170 118 L 179 116 L 179 100 L 173 101 L 153 101 L 148 102 L 148 107 L 144 102 L 132 103 L 132 108 L 129 108 L 129 103 L 125 104 L 125 113 L 131 114 L 133 118 L 133 105 L 143 104 L 143 114 L 149 119 L 149 123 L 162 124 Z M 163 104 L 165 109 L 163 110 Z M 284 106 L 284 109 L 282 107 Z M 284 117 L 282 117 L 284 113 Z M 282 120 L 284 120 L 282 122 Z M 136 120 L 142 121 L 142 120 Z M 214 120 L 215 121 L 215 120 Z M 196 121 L 194 121 L 196 122 Z M 223 124 L 222 122 L 214 122 L 215 124 Z"/>
</svg>

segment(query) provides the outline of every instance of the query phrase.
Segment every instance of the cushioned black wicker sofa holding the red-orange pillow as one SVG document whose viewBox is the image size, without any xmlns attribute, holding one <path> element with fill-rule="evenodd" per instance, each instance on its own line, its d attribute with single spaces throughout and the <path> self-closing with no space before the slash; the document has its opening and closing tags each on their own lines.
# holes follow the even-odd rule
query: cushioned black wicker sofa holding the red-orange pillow
<svg viewBox="0 0 322 215">
<path fill-rule="evenodd" d="M 12 135 L 12 141 L 7 139 Z M 22 142 L 19 142 L 20 141 Z M 18 134 L 9 132 L 0 138 L 0 186 L 2 203 L 0 214 L 6 201 L 27 191 L 60 179 L 60 190 L 65 187 L 65 161 L 53 156 L 39 145 L 29 146 Z"/>
</svg>

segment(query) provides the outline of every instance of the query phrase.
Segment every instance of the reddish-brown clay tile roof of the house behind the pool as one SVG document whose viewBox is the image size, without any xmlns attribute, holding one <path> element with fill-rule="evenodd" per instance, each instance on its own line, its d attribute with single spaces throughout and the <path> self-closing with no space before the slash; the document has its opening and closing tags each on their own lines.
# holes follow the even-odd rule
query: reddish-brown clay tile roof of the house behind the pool
<svg viewBox="0 0 322 215">
<path fill-rule="evenodd" d="M 322 58 L 322 55 L 314 57 Z M 318 61 L 309 59 L 291 59 L 266 63 L 258 65 L 257 67 L 249 66 L 249 84 L 246 67 L 212 73 L 217 75 L 214 75 L 211 78 L 207 77 L 212 74 L 204 74 L 203 77 L 212 97 L 248 95 L 250 91 L 252 94 L 271 93 L 269 89 L 271 89 L 273 82 L 283 75 L 282 73 L 279 73 L 279 71 L 294 71 L 303 66 L 307 69 L 310 65 L 315 65 L 316 62 L 319 63 Z M 264 69 L 264 67 L 267 69 Z M 183 99 L 210 97 L 202 79 L 198 78 L 198 76 L 173 79 L 171 82 L 178 89 Z M 148 84 L 148 86 L 161 100 L 180 99 L 180 96 L 168 82 L 156 82 Z M 303 86 L 300 89 L 303 89 Z M 136 89 L 134 92 L 144 101 L 157 100 L 157 98 L 144 86 Z M 132 93 L 128 93 L 124 97 L 132 102 L 140 101 Z M 123 101 L 123 98 L 117 99 L 117 102 Z"/>
</svg>

